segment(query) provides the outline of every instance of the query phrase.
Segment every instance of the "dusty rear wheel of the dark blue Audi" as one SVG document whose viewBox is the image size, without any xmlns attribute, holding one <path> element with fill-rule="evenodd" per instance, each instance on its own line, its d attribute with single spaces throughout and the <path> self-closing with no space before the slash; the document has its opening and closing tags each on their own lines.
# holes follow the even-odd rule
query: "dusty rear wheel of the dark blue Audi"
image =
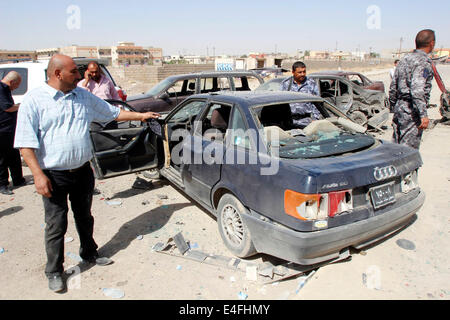
<svg viewBox="0 0 450 320">
<path fill-rule="evenodd" d="M 219 233 L 227 248 L 236 256 L 245 258 L 256 254 L 250 231 L 242 220 L 244 205 L 231 194 L 225 194 L 217 208 Z"/>
</svg>

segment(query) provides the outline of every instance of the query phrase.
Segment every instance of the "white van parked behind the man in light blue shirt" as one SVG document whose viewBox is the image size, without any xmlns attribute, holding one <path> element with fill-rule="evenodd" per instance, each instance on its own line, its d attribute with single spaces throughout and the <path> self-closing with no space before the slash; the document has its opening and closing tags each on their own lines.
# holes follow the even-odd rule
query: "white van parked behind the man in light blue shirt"
<svg viewBox="0 0 450 320">
<path fill-rule="evenodd" d="M 117 86 L 108 69 L 106 69 L 107 60 L 89 58 L 73 58 L 73 60 L 78 66 L 81 77 L 84 77 L 84 72 L 86 71 L 89 62 L 96 61 L 99 64 L 100 69 L 103 71 L 105 77 L 107 77 L 114 83 L 114 86 L 116 87 L 120 98 L 123 101 L 126 101 L 127 96 L 125 94 L 125 91 Z M 0 80 L 3 79 L 3 77 L 6 76 L 6 74 L 8 74 L 8 72 L 10 71 L 16 71 L 22 76 L 22 83 L 20 84 L 20 87 L 12 92 L 14 103 L 21 103 L 25 93 L 27 93 L 29 90 L 41 86 L 44 82 L 47 81 L 48 62 L 49 60 L 36 60 L 0 64 Z"/>
</svg>

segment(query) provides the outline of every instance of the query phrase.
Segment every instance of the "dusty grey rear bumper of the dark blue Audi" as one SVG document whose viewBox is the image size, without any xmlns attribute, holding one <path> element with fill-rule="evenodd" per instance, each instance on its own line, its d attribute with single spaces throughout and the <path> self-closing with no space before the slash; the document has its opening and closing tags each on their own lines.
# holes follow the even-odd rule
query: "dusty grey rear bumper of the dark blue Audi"
<svg viewBox="0 0 450 320">
<path fill-rule="evenodd" d="M 341 227 L 314 232 L 295 231 L 261 219 L 252 212 L 242 218 L 249 228 L 258 252 L 281 259 L 312 265 L 339 257 L 348 247 L 357 249 L 376 242 L 405 226 L 425 202 L 425 193 L 383 214 Z"/>
</svg>

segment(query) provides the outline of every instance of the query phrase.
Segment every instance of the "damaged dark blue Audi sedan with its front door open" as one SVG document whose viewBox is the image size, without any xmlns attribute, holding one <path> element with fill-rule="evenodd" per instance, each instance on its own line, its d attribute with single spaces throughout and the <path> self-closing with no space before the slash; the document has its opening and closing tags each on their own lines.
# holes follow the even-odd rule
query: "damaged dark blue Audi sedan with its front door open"
<svg viewBox="0 0 450 320">
<path fill-rule="evenodd" d="M 294 103 L 322 118 L 294 126 Z M 98 179 L 158 170 L 217 217 L 238 257 L 312 265 L 401 229 L 425 201 L 419 152 L 365 130 L 320 97 L 200 94 L 158 122 L 93 129 L 92 163 Z"/>
</svg>

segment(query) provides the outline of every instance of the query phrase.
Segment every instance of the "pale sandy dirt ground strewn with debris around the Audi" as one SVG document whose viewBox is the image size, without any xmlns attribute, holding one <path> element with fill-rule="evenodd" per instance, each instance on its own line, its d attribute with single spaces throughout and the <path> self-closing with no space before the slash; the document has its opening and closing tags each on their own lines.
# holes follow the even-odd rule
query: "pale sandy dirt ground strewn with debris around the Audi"
<svg viewBox="0 0 450 320">
<path fill-rule="evenodd" d="M 450 85 L 450 66 L 439 66 Z M 388 70 L 367 73 L 389 86 Z M 431 103 L 439 103 L 433 86 Z M 440 118 L 436 108 L 430 117 Z M 383 138 L 390 139 L 389 128 Z M 90 268 L 78 264 L 78 236 L 69 213 L 65 268 L 76 266 L 64 294 L 48 290 L 44 276 L 44 216 L 34 186 L 0 195 L 0 299 L 446 299 L 450 297 L 450 126 L 425 133 L 420 184 L 427 194 L 416 221 L 402 232 L 358 254 L 351 261 L 320 268 L 298 292 L 299 279 L 264 285 L 270 279 L 246 278 L 245 272 L 200 264 L 152 252 L 158 242 L 182 231 L 210 254 L 232 257 L 222 244 L 216 221 L 168 184 L 132 189 L 136 175 L 97 183 L 94 196 L 95 239 L 100 253 L 114 264 Z M 25 174 L 30 177 L 28 168 Z M 142 177 L 142 176 L 140 176 Z M 167 199 L 160 199 L 161 195 Z M 108 202 L 108 201 L 113 201 Z M 398 240 L 408 240 L 412 250 Z M 409 248 L 409 249 L 411 249 Z M 258 255 L 252 263 L 276 259 Z M 117 289 L 116 291 L 105 289 Z"/>
</svg>

